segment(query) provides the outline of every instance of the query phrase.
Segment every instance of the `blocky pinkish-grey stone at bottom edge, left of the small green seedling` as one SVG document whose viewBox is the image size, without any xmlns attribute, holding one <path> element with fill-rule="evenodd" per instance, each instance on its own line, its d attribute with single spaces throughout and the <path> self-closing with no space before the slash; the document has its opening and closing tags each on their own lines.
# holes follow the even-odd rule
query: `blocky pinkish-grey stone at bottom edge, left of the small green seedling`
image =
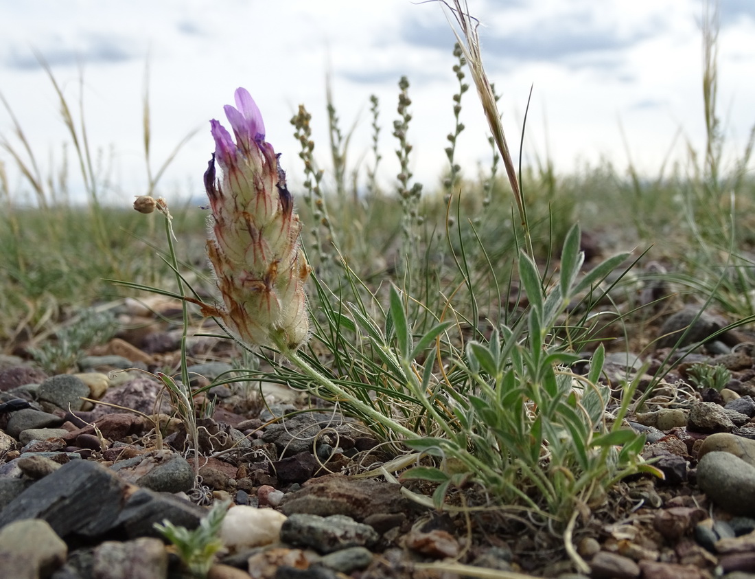
<svg viewBox="0 0 755 579">
<path fill-rule="evenodd" d="M 105 541 L 94 549 L 92 576 L 97 579 L 165 579 L 168 553 L 153 537 Z"/>
</svg>

